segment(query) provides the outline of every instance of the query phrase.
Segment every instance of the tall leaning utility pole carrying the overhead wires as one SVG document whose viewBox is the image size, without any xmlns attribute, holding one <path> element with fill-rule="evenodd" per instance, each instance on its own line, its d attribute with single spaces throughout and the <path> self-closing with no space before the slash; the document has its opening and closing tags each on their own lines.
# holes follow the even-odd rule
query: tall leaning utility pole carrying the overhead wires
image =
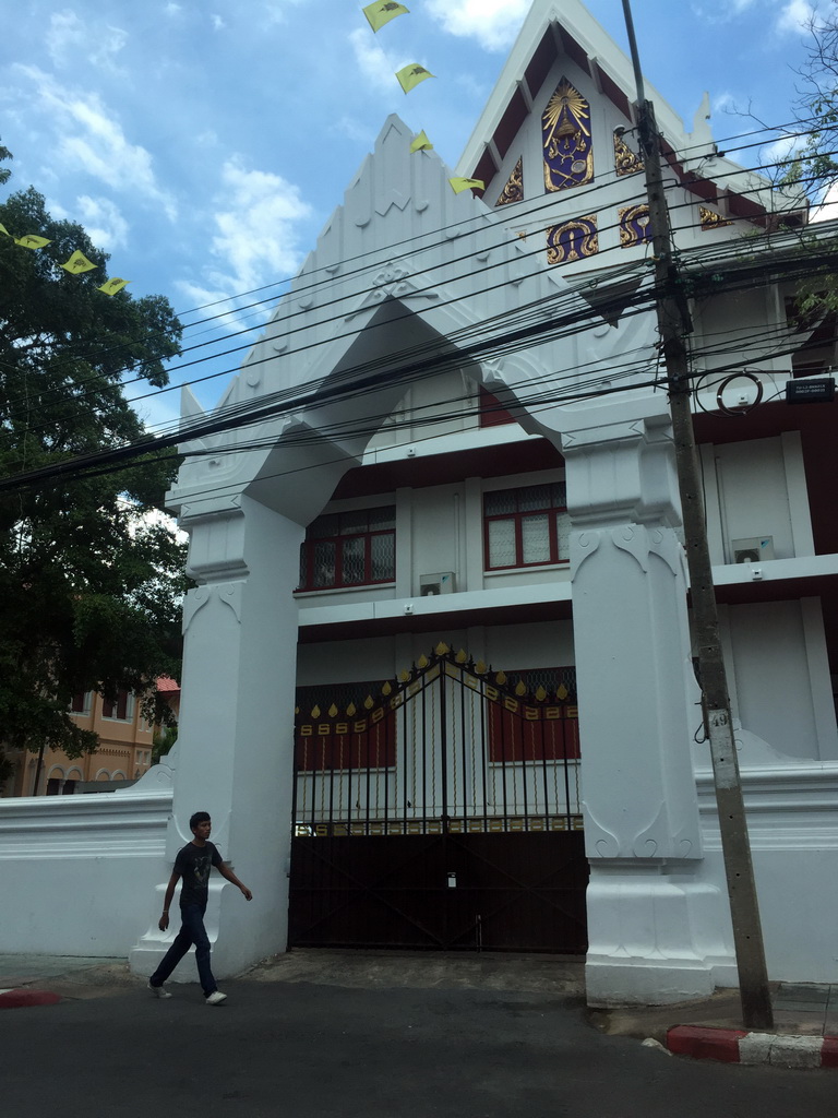
<svg viewBox="0 0 838 1118">
<path fill-rule="evenodd" d="M 693 628 L 698 644 L 702 699 L 713 758 L 718 826 L 722 833 L 722 851 L 739 968 L 742 1021 L 746 1029 L 773 1029 L 765 950 L 736 743 L 733 737 L 731 700 L 718 633 L 718 613 L 707 547 L 701 471 L 691 411 L 689 363 L 684 335 L 692 330 L 692 323 L 686 297 L 679 293 L 677 286 L 678 273 L 673 257 L 669 210 L 660 167 L 660 138 L 655 121 L 655 110 L 646 100 L 630 0 L 622 0 L 622 9 L 637 82 L 640 150 L 646 168 L 649 227 L 655 254 L 658 330 L 666 363 L 689 590 L 693 599 Z"/>
</svg>

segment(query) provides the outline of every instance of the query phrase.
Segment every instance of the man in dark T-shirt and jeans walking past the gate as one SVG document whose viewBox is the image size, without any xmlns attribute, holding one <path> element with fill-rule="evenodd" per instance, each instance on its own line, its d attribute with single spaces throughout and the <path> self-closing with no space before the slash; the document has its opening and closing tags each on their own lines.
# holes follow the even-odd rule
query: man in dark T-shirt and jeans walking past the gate
<svg viewBox="0 0 838 1118">
<path fill-rule="evenodd" d="M 165 931 L 169 927 L 169 907 L 172 903 L 178 881 L 182 881 L 180 892 L 181 929 L 163 956 L 160 966 L 149 979 L 149 989 L 155 997 L 171 997 L 172 995 L 163 989 L 163 983 L 194 944 L 198 977 L 207 1005 L 220 1005 L 221 1002 L 226 1001 L 227 995 L 221 993 L 212 976 L 210 941 L 203 927 L 203 913 L 207 911 L 209 897 L 209 875 L 212 866 L 218 869 L 222 878 L 227 878 L 234 885 L 238 885 L 247 900 L 253 900 L 253 893 L 247 885 L 241 884 L 232 870 L 225 865 L 218 853 L 218 847 L 209 842 L 212 822 L 208 813 L 196 812 L 189 821 L 189 827 L 194 837 L 178 852 L 174 870 L 165 887 L 163 915 L 158 923 L 161 931 Z"/>
</svg>

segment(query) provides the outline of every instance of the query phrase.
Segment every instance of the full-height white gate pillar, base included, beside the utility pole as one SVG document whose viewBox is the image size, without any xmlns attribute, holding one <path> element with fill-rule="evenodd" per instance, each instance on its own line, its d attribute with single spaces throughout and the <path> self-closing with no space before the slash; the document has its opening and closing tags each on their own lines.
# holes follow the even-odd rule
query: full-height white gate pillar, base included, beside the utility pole
<svg viewBox="0 0 838 1118">
<path fill-rule="evenodd" d="M 561 451 L 591 865 L 588 1001 L 676 1002 L 736 979 L 691 761 L 702 713 L 668 409 L 651 398 L 583 417 Z"/>
</svg>

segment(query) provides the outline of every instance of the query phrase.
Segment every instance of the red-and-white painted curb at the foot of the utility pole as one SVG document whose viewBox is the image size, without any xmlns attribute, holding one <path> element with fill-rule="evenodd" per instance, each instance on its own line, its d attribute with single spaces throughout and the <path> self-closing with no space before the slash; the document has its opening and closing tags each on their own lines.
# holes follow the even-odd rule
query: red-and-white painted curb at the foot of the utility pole
<svg viewBox="0 0 838 1118">
<path fill-rule="evenodd" d="M 775 1068 L 838 1068 L 838 1036 L 750 1033 L 742 1029 L 676 1025 L 666 1034 L 676 1055 Z"/>
</svg>

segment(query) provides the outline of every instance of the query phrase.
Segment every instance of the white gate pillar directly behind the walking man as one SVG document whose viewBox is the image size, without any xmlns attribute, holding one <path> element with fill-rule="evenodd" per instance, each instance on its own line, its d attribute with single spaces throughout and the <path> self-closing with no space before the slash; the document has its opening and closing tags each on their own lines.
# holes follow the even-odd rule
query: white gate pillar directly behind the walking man
<svg viewBox="0 0 838 1118">
<path fill-rule="evenodd" d="M 223 977 L 286 946 L 297 645 L 293 590 L 304 529 L 247 496 L 226 509 L 187 514 L 182 522 L 191 533 L 189 570 L 200 585 L 189 593 L 183 613 L 183 700 L 163 881 L 177 851 L 191 841 L 190 815 L 209 812 L 211 841 L 254 893 L 248 903 L 212 874 L 207 930 L 213 970 Z M 132 969 L 143 975 L 154 970 L 172 934 L 171 926 L 169 936 L 156 928 L 162 903 L 150 898 L 151 907 L 151 927 L 131 953 Z M 171 925 L 177 931 L 177 911 Z M 173 977 L 196 980 L 191 954 Z"/>
</svg>

